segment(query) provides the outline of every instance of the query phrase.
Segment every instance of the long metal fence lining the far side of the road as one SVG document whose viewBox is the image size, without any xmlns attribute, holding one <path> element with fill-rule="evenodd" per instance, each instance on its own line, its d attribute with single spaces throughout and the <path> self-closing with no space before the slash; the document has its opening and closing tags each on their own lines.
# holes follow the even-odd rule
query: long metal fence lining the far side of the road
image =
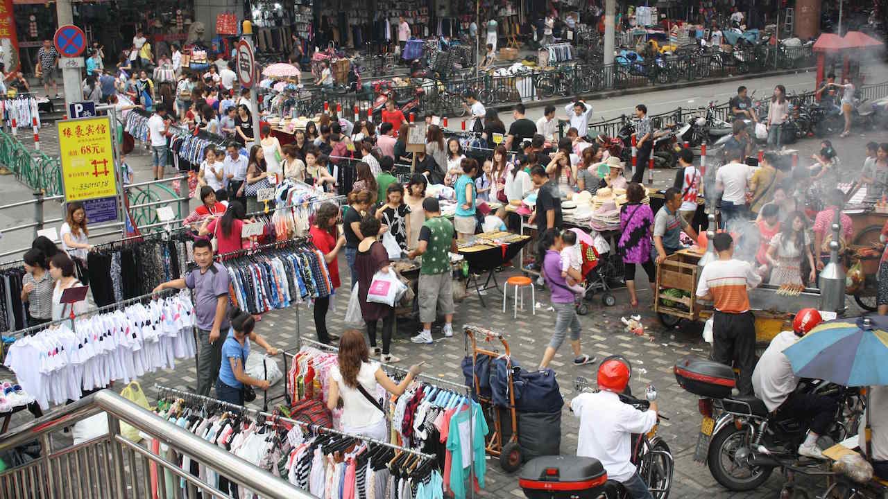
<svg viewBox="0 0 888 499">
<path fill-rule="evenodd" d="M 749 45 L 733 51 L 679 51 L 658 59 L 638 61 L 618 56 L 614 64 L 601 65 L 574 60 L 551 69 L 528 70 L 519 75 L 485 74 L 433 82 L 426 80 L 418 97 L 424 113 L 458 117 L 464 115 L 462 95 L 473 91 L 485 105 L 531 102 L 553 97 L 590 96 L 600 91 L 655 87 L 656 85 L 693 82 L 710 77 L 754 75 L 773 69 L 811 67 L 815 56 L 811 46 L 773 47 Z M 392 89 L 399 102 L 415 97 L 416 87 Z M 375 100 L 372 85 L 358 93 L 315 91 L 297 99 L 297 115 L 315 115 L 341 108 L 351 119 L 358 107 L 361 117 L 372 116 Z"/>
</svg>

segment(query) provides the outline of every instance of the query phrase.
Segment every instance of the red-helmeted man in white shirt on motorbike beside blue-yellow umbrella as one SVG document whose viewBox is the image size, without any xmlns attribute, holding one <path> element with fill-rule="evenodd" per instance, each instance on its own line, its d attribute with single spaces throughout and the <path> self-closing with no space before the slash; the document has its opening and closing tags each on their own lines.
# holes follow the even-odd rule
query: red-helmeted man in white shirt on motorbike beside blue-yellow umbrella
<svg viewBox="0 0 888 499">
<path fill-rule="evenodd" d="M 798 376 L 783 352 L 822 320 L 821 313 L 813 308 L 799 310 L 792 321 L 793 330 L 773 337 L 752 372 L 752 388 L 756 397 L 765 402 L 768 412 L 797 419 L 802 424 L 810 422 L 810 431 L 798 447 L 798 454 L 815 459 L 825 459 L 817 439 L 829 432 L 836 417 L 836 400 L 817 393 L 797 393 Z"/>
</svg>

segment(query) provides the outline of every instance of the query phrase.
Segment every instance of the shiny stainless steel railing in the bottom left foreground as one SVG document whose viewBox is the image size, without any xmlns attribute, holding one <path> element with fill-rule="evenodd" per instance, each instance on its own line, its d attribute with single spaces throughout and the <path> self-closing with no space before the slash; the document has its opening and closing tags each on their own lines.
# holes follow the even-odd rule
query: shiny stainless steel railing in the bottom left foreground
<svg viewBox="0 0 888 499">
<path fill-rule="evenodd" d="M 107 413 L 107 434 L 78 445 L 63 443 L 67 440 L 60 438 L 64 428 L 102 411 Z M 173 499 L 194 498 L 199 490 L 217 497 L 229 496 L 200 477 L 183 471 L 178 463 L 171 463 L 150 448 L 125 439 L 121 434 L 121 423 L 130 424 L 176 453 L 202 463 L 239 489 L 275 499 L 316 499 L 314 495 L 108 390 L 61 407 L 15 432 L 0 436 L 0 452 L 23 445 L 36 445 L 40 449 L 39 455 L 28 463 L 0 472 L 0 497 L 123 499 L 155 496 Z M 186 483 L 185 492 L 179 488 L 180 479 Z M 169 480 L 173 482 L 171 497 L 167 495 L 166 487 L 170 485 Z"/>
</svg>

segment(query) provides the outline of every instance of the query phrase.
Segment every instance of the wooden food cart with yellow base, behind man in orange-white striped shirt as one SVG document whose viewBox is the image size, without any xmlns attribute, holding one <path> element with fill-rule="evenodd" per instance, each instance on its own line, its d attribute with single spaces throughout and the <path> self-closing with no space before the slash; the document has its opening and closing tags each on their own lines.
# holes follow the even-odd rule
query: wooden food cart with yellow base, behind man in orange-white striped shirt
<svg viewBox="0 0 888 499">
<path fill-rule="evenodd" d="M 681 249 L 657 266 L 654 312 L 666 327 L 679 321 L 706 321 L 712 316 L 711 305 L 704 305 L 696 297 L 702 253 L 695 249 Z M 682 296 L 675 291 L 678 289 Z M 767 344 L 783 330 L 792 327 L 792 318 L 799 309 L 818 308 L 819 289 L 797 289 L 786 292 L 769 284 L 749 291 L 749 306 L 756 316 L 756 343 Z"/>
</svg>

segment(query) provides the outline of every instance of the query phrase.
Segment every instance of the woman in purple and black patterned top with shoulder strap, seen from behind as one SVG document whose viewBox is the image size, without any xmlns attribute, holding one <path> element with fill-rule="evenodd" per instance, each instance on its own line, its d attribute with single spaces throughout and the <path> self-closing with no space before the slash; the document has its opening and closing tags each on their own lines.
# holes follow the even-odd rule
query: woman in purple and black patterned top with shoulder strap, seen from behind
<svg viewBox="0 0 888 499">
<path fill-rule="evenodd" d="M 642 204 L 645 188 L 635 182 L 626 187 L 627 203 L 620 209 L 620 241 L 616 250 L 622 256 L 625 266 L 623 278 L 629 289 L 629 304 L 638 306 L 638 295 L 635 294 L 635 265 L 641 264 L 647 273 L 647 279 L 656 281 L 656 270 L 651 260 L 651 229 L 654 226 L 654 212 L 651 207 Z"/>
</svg>

